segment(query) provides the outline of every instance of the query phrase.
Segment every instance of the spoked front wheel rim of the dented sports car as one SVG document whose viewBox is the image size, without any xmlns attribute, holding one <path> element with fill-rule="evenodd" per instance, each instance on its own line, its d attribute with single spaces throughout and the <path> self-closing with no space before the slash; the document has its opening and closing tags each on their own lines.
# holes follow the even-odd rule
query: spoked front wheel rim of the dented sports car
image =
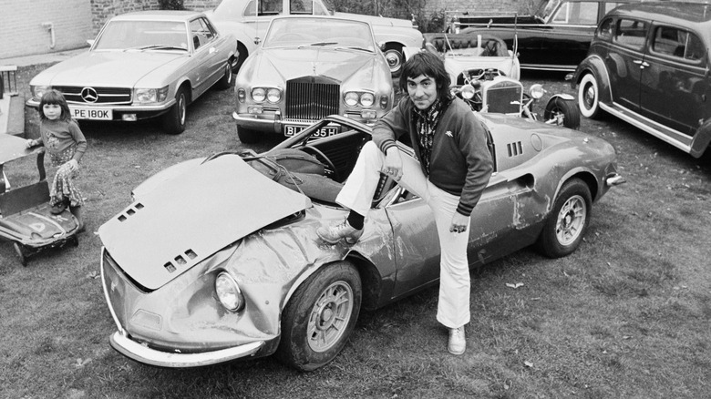
<svg viewBox="0 0 711 399">
<path fill-rule="evenodd" d="M 353 312 L 353 290 L 345 281 L 336 281 L 314 303 L 308 322 L 308 344 L 314 352 L 332 348 L 345 333 Z"/>
</svg>

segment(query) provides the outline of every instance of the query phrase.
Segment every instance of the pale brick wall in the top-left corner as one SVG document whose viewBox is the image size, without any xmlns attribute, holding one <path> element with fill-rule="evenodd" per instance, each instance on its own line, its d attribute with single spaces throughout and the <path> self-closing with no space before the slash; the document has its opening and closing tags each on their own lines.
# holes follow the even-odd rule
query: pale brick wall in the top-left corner
<svg viewBox="0 0 711 399">
<path fill-rule="evenodd" d="M 0 58 L 87 46 L 93 37 L 90 0 L 0 0 Z M 55 34 L 42 26 L 52 24 Z"/>
</svg>

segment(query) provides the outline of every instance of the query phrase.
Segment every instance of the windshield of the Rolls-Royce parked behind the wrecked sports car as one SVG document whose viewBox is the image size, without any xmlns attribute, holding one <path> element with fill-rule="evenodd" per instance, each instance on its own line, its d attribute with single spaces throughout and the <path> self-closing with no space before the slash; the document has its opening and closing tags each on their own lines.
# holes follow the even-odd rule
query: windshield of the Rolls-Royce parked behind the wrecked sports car
<svg viewBox="0 0 711 399">
<path fill-rule="evenodd" d="M 272 21 L 264 48 L 324 46 L 375 52 L 370 26 L 365 22 L 326 18 L 277 18 Z"/>
</svg>

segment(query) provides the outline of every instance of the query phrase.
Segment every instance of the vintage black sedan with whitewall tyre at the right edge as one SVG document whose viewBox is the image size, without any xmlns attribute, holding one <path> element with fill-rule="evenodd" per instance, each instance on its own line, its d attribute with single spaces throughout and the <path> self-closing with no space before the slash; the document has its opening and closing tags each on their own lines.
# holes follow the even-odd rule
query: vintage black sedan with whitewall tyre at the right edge
<svg viewBox="0 0 711 399">
<path fill-rule="evenodd" d="M 711 5 L 655 2 L 606 15 L 577 68 L 581 114 L 612 114 L 699 158 L 711 141 Z"/>
</svg>

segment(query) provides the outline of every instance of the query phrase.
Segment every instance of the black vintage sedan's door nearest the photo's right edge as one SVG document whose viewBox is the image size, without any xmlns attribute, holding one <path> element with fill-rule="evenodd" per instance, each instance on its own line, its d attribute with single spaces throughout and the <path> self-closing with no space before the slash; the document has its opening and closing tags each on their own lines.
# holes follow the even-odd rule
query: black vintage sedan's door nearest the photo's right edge
<svg viewBox="0 0 711 399">
<path fill-rule="evenodd" d="M 676 140 L 690 144 L 706 118 L 706 47 L 683 26 L 652 26 L 644 56 L 640 114 L 682 133 Z"/>
</svg>

